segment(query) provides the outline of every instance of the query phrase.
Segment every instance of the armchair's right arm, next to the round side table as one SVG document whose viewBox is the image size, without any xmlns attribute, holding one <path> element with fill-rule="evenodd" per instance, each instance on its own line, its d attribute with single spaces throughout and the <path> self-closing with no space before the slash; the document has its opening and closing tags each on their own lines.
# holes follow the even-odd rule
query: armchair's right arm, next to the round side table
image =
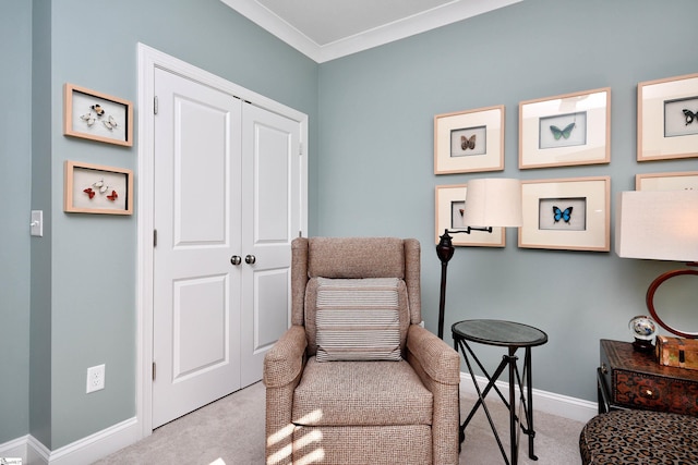
<svg viewBox="0 0 698 465">
<path fill-rule="evenodd" d="M 419 325 L 410 325 L 407 350 L 434 381 L 442 384 L 460 382 L 460 356 L 436 334 Z"/>
</svg>

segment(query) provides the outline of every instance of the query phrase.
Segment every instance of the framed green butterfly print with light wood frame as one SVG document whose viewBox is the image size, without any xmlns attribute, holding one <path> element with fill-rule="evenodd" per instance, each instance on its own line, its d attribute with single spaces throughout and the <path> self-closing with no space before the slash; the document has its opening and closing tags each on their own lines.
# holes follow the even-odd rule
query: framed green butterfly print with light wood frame
<svg viewBox="0 0 698 465">
<path fill-rule="evenodd" d="M 611 88 L 519 103 L 519 169 L 611 161 Z"/>
</svg>

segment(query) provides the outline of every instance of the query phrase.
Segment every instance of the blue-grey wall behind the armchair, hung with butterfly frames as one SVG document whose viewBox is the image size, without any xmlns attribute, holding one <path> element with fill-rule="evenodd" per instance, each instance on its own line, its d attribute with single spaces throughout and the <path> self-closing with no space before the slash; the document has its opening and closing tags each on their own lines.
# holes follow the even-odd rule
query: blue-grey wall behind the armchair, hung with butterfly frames
<svg viewBox="0 0 698 465">
<path fill-rule="evenodd" d="M 434 187 L 479 174 L 433 174 L 433 117 L 506 106 L 505 175 L 546 180 L 698 170 L 698 161 L 636 161 L 638 82 L 698 72 L 698 2 L 525 0 L 321 65 L 320 235 L 412 236 L 422 243 L 422 308 L 436 331 L 440 261 Z M 612 88 L 611 163 L 518 169 L 518 102 Z M 613 207 L 612 207 L 613 210 Z M 455 321 L 502 318 L 537 326 L 534 388 L 595 400 L 599 339 L 631 340 L 651 280 L 675 264 L 613 253 L 461 247 L 448 270 L 446 333 Z M 501 351 L 484 351 L 496 364 Z"/>
</svg>

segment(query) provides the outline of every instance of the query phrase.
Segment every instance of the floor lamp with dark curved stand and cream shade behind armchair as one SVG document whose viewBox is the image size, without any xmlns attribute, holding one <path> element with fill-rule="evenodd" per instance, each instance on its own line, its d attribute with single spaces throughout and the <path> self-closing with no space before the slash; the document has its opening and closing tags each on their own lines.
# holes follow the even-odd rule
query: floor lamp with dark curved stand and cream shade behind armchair
<svg viewBox="0 0 698 465">
<path fill-rule="evenodd" d="M 479 179 L 468 182 L 465 189 L 465 230 L 445 230 L 436 245 L 441 260 L 441 293 L 438 298 L 438 336 L 444 339 L 446 307 L 446 272 L 448 261 L 456 252 L 450 234 L 470 234 L 472 231 L 492 232 L 494 227 L 521 225 L 521 182 L 506 178 Z M 450 233 L 450 234 L 449 234 Z"/>
</svg>

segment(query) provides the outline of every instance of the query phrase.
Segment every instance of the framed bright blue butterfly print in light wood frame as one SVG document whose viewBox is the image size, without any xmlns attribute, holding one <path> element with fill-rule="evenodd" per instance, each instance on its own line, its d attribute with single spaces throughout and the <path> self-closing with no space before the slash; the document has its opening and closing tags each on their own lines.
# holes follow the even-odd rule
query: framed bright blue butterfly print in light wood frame
<svg viewBox="0 0 698 465">
<path fill-rule="evenodd" d="M 609 252 L 611 178 L 521 182 L 519 247 Z"/>
</svg>

